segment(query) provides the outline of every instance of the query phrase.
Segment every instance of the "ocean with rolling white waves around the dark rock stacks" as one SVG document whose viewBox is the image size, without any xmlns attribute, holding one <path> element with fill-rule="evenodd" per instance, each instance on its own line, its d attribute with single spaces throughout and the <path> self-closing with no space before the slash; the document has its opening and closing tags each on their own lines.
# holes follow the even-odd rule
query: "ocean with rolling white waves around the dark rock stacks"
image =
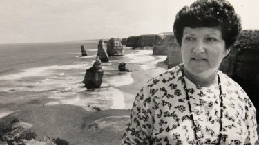
<svg viewBox="0 0 259 145">
<path fill-rule="evenodd" d="M 99 40 L 0 45 L 0 117 L 28 105 L 74 104 L 86 110 L 130 109 L 144 82 L 166 70 L 152 50 L 125 48 L 124 56 L 102 63 L 103 82 L 86 89 L 81 82 L 92 67 Z M 81 57 L 84 45 L 88 56 Z M 119 72 L 119 63 L 131 72 Z"/>
</svg>

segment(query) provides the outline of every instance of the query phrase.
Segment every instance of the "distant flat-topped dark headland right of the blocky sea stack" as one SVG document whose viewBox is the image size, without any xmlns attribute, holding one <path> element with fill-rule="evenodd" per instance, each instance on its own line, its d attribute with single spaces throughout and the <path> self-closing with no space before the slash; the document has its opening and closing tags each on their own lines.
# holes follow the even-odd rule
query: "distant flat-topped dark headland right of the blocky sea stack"
<svg viewBox="0 0 259 145">
<path fill-rule="evenodd" d="M 141 36 L 130 36 L 127 38 L 126 47 L 145 47 L 158 45 L 162 41 L 162 37 L 157 34 L 141 35 Z"/>
</svg>

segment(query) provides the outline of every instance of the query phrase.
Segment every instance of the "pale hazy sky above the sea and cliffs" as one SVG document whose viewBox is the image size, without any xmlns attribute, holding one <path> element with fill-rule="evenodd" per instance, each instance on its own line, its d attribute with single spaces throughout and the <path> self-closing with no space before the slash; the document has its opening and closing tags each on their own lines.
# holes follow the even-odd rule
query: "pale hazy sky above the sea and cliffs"
<svg viewBox="0 0 259 145">
<path fill-rule="evenodd" d="M 243 29 L 259 29 L 258 0 L 229 0 Z M 0 0 L 0 43 L 127 38 L 172 32 L 193 0 Z"/>
</svg>

